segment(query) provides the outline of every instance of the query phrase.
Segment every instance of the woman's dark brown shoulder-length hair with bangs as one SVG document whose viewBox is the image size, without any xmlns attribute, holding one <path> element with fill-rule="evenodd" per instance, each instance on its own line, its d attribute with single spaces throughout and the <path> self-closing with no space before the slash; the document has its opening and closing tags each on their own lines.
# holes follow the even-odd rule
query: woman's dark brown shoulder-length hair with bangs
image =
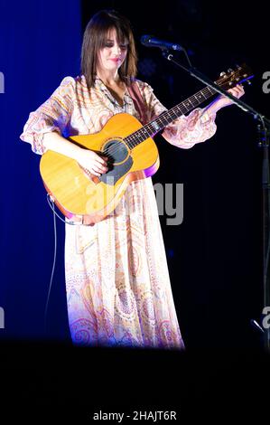
<svg viewBox="0 0 270 425">
<path fill-rule="evenodd" d="M 93 87 L 97 67 L 97 53 L 106 42 L 107 33 L 116 29 L 117 42 L 128 42 L 126 60 L 118 74 L 129 86 L 136 75 L 137 54 L 131 24 L 115 10 L 101 10 L 90 19 L 84 32 L 81 47 L 81 73 L 86 77 L 88 88 Z"/>
</svg>

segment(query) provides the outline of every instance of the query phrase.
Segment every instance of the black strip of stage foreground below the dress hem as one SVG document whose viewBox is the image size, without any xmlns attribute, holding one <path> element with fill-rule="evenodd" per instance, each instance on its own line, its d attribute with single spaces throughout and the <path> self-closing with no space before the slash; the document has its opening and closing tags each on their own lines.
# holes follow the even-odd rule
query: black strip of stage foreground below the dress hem
<svg viewBox="0 0 270 425">
<path fill-rule="evenodd" d="M 9 341 L 1 342 L 0 359 L 1 412 L 10 420 L 219 423 L 267 417 L 270 356 L 260 350 Z"/>
</svg>

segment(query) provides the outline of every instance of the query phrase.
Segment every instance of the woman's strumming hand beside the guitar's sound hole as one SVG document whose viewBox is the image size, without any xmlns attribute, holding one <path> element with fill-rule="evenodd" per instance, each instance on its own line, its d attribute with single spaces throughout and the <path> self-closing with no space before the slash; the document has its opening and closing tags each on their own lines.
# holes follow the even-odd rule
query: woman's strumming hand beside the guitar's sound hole
<svg viewBox="0 0 270 425">
<path fill-rule="evenodd" d="M 80 166 L 87 169 L 92 175 L 102 175 L 107 172 L 107 156 L 99 156 L 93 150 L 81 148 L 76 155 Z"/>
</svg>

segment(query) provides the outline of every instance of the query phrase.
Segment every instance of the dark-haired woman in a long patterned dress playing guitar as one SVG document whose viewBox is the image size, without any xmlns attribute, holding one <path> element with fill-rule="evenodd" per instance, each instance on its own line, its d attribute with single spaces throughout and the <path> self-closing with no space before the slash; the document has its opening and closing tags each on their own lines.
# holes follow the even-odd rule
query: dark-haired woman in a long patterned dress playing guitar
<svg viewBox="0 0 270 425">
<path fill-rule="evenodd" d="M 22 140 L 33 151 L 70 156 L 92 175 L 107 172 L 107 157 L 62 135 L 96 133 L 108 118 L 126 112 L 143 124 L 165 108 L 152 88 L 135 80 L 131 26 L 116 11 L 100 11 L 84 33 L 81 75 L 66 77 L 51 98 L 30 114 Z M 140 102 L 135 102 L 135 92 Z M 230 92 L 239 98 L 243 89 Z M 190 148 L 212 137 L 219 97 L 165 127 L 172 145 Z M 140 106 L 141 105 L 141 106 Z M 127 213 L 128 212 L 128 213 Z M 66 224 L 65 273 L 70 334 L 78 345 L 182 349 L 163 236 L 151 178 L 128 185 L 116 212 L 93 226 Z"/>
</svg>

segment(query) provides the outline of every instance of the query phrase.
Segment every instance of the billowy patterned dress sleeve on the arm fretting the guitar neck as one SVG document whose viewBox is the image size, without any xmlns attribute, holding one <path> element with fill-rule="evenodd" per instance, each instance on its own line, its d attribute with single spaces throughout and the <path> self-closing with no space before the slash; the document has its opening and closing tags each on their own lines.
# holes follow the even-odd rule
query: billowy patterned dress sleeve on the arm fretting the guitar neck
<svg viewBox="0 0 270 425">
<path fill-rule="evenodd" d="M 152 87 L 147 83 L 144 83 L 142 92 L 149 111 L 149 121 L 167 110 L 155 97 Z M 192 110 L 189 115 L 182 115 L 182 117 L 175 119 L 164 128 L 162 135 L 172 145 L 187 149 L 197 143 L 204 142 L 216 133 L 215 118 L 216 114 L 210 115 L 207 108 L 197 108 Z"/>
</svg>

